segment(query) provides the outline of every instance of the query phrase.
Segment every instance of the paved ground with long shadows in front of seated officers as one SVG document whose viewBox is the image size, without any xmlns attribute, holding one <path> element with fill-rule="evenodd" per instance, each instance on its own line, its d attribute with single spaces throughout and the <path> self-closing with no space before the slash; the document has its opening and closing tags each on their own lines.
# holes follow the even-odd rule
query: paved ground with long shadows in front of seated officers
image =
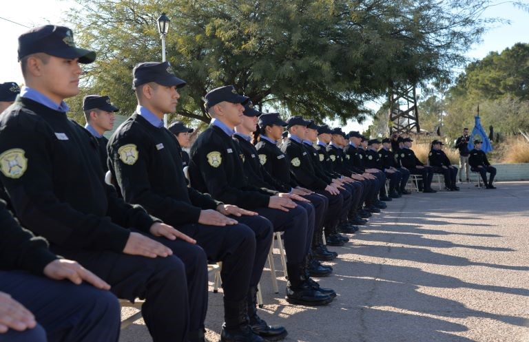
<svg viewBox="0 0 529 342">
<path fill-rule="evenodd" d="M 338 292 L 329 306 L 289 305 L 284 277 L 275 295 L 267 264 L 260 316 L 287 327 L 285 342 L 529 342 L 529 182 L 497 187 L 388 202 L 331 248 L 340 257 L 320 279 Z M 275 264 L 282 276 L 278 255 Z M 218 341 L 222 314 L 221 291 L 210 291 L 207 341 Z M 140 320 L 120 341 L 152 340 Z"/>
</svg>

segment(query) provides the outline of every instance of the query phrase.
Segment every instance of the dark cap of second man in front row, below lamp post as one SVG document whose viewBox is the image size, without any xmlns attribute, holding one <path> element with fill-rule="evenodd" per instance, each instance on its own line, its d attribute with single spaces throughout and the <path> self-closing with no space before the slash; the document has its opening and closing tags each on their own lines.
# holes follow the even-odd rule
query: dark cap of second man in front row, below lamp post
<svg viewBox="0 0 529 342">
<path fill-rule="evenodd" d="M 173 85 L 176 85 L 177 88 L 181 88 L 186 85 L 184 80 L 176 77 L 173 68 L 167 61 L 161 63 L 139 63 L 132 70 L 132 76 L 134 77 L 134 80 L 132 81 L 134 88 L 149 82 L 165 85 L 166 87 L 172 87 Z"/>
</svg>

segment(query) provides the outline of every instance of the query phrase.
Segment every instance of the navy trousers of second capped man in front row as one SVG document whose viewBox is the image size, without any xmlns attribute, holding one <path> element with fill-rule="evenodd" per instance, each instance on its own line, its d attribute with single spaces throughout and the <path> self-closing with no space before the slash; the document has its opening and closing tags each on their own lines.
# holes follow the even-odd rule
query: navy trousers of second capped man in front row
<svg viewBox="0 0 529 342">
<path fill-rule="evenodd" d="M 224 297 L 241 301 L 249 286 L 257 286 L 272 242 L 272 224 L 261 216 L 231 216 L 231 226 L 185 224 L 178 230 L 196 239 L 209 262 L 222 261 Z M 207 284 L 207 281 L 206 281 Z"/>
</svg>

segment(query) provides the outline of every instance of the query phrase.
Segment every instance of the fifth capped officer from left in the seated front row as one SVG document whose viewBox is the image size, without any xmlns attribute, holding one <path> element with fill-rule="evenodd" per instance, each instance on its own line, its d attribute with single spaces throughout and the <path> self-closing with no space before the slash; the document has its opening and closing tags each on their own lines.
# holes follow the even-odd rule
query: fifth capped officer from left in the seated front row
<svg viewBox="0 0 529 342">
<path fill-rule="evenodd" d="M 287 125 L 287 122 L 281 120 L 278 113 L 262 114 L 259 117 L 258 142 L 256 144 L 256 149 L 259 153 L 259 161 L 262 165 L 262 169 L 267 171 L 276 182 L 282 184 L 281 189 L 283 189 L 283 191 L 291 189 L 292 193 L 301 195 L 314 203 L 316 208 L 320 206 L 318 202 L 323 202 L 324 217 L 322 217 L 321 222 L 316 220 L 311 247 L 313 256 L 316 259 L 332 260 L 338 256 L 338 253 L 329 252 L 323 244 L 322 237 L 323 226 L 329 210 L 329 200 L 323 195 L 314 193 L 307 188 L 303 188 L 293 177 L 291 177 L 289 158 L 277 145 L 277 142 L 282 138 L 283 127 L 286 127 Z"/>
</svg>

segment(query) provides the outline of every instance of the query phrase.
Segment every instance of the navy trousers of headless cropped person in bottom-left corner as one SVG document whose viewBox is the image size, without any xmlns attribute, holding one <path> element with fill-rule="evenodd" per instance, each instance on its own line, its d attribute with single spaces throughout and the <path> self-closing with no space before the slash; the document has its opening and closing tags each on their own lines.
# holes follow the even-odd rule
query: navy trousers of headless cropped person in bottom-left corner
<svg viewBox="0 0 529 342">
<path fill-rule="evenodd" d="M 112 292 L 23 271 L 0 271 L 0 291 L 34 314 L 37 326 L 1 334 L 1 342 L 116 342 L 120 306 Z"/>
</svg>

